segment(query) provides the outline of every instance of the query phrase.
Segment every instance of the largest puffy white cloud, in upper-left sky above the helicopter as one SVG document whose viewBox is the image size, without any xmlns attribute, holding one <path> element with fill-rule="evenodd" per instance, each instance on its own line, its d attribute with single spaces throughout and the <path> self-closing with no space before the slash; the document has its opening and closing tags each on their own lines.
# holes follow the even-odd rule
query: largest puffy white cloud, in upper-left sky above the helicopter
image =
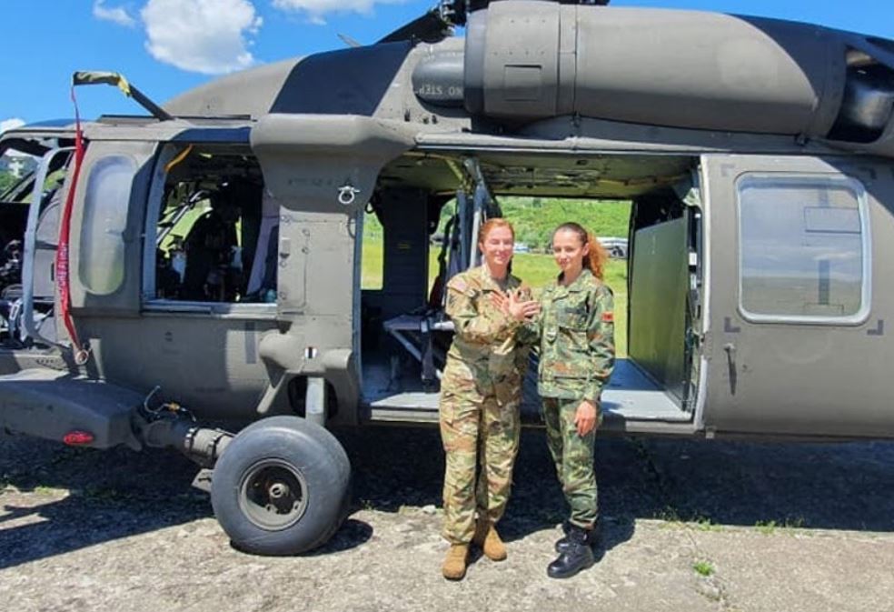
<svg viewBox="0 0 894 612">
<path fill-rule="evenodd" d="M 160 62 L 220 75 L 254 63 L 248 47 L 262 19 L 248 0 L 149 0 L 146 49 Z"/>
</svg>

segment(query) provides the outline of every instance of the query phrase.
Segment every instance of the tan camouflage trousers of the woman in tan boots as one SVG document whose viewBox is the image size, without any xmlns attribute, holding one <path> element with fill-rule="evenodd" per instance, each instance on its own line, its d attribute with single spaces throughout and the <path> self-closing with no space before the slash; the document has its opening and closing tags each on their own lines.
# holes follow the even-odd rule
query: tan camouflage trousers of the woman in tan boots
<svg viewBox="0 0 894 612">
<path fill-rule="evenodd" d="M 496 385 L 500 387 L 499 384 Z M 507 397 L 509 401 L 503 401 Z M 496 523 L 506 509 L 519 449 L 521 387 L 481 396 L 471 390 L 441 395 L 441 439 L 446 454 L 443 537 L 472 541 L 475 519 Z"/>
</svg>

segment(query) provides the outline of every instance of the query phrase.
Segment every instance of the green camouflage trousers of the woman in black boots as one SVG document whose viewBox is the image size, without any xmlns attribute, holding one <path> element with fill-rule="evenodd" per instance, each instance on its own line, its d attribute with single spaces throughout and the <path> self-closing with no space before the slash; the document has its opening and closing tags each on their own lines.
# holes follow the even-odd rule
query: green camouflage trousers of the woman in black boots
<svg viewBox="0 0 894 612">
<path fill-rule="evenodd" d="M 595 428 L 586 436 L 578 436 L 574 416 L 580 399 L 543 397 L 546 419 L 546 442 L 550 447 L 556 474 L 561 482 L 565 501 L 571 507 L 570 522 L 591 528 L 599 517 L 596 472 L 593 468 Z"/>
</svg>

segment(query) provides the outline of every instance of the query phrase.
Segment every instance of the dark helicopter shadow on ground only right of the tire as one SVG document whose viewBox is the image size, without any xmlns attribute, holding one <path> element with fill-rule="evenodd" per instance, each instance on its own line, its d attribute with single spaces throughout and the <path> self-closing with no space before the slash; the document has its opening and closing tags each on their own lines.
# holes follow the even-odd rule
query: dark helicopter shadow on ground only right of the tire
<svg viewBox="0 0 894 612">
<path fill-rule="evenodd" d="M 357 507 L 441 506 L 443 456 L 435 429 L 339 432 L 354 469 Z M 393 458 L 389 458 L 393 457 Z M 719 525 L 894 531 L 894 443 L 769 444 L 602 437 L 597 442 L 607 537 L 638 518 Z M 507 537 L 566 516 L 542 430 L 521 437 Z"/>
</svg>

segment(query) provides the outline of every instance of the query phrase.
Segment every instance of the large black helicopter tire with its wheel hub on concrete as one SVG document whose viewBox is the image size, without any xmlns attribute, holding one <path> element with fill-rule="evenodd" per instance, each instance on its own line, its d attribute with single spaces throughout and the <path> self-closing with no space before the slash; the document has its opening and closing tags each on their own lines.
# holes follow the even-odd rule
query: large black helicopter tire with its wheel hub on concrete
<svg viewBox="0 0 894 612">
<path fill-rule="evenodd" d="M 233 546 L 296 555 L 344 519 L 351 462 L 338 440 L 298 416 L 272 416 L 233 438 L 214 467 L 211 504 Z"/>
</svg>

